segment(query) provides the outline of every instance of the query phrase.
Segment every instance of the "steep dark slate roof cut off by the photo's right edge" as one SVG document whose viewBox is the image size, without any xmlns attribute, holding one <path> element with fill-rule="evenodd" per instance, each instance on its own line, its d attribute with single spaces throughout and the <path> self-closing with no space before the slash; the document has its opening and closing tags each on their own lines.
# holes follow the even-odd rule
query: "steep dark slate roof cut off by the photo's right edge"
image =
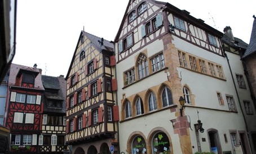
<svg viewBox="0 0 256 154">
<path fill-rule="evenodd" d="M 251 38 L 250 38 L 249 46 L 246 49 L 242 58 L 249 57 L 256 53 L 256 17 L 255 16 L 253 17 L 254 17 L 253 29 L 251 30 Z"/>
</svg>

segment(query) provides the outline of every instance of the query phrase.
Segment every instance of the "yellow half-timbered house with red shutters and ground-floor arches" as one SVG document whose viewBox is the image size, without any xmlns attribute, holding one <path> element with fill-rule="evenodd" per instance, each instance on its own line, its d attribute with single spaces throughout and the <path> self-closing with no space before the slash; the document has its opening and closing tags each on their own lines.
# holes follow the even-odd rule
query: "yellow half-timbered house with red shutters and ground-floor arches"
<svg viewBox="0 0 256 154">
<path fill-rule="evenodd" d="M 113 43 L 81 31 L 67 80 L 66 143 L 72 153 L 108 153 L 117 144 Z"/>
</svg>

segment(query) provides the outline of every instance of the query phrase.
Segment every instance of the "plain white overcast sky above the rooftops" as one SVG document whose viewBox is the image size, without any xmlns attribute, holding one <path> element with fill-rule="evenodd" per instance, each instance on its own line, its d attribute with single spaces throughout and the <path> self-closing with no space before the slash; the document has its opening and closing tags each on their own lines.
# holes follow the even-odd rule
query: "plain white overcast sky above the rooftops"
<svg viewBox="0 0 256 154">
<path fill-rule="evenodd" d="M 162 1 L 162 0 L 161 0 Z M 67 75 L 81 30 L 114 40 L 129 0 L 22 0 L 17 2 L 15 64 L 37 64 L 43 75 Z M 255 0 L 166 0 L 249 43 Z"/>
</svg>

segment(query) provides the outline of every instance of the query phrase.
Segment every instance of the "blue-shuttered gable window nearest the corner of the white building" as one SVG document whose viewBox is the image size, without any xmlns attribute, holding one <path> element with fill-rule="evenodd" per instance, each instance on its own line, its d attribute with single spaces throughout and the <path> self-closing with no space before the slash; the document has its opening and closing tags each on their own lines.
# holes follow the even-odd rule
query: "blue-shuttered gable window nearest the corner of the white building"
<svg viewBox="0 0 256 154">
<path fill-rule="evenodd" d="M 162 15 L 158 14 L 149 20 L 145 25 L 142 25 L 142 37 L 151 34 L 153 31 L 158 29 L 162 25 Z"/>
</svg>

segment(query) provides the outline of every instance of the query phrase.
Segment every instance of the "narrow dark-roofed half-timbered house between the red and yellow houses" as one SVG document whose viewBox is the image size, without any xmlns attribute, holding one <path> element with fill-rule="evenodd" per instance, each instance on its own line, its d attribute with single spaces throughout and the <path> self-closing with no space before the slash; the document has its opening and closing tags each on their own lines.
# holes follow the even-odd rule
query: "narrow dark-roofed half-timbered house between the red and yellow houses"
<svg viewBox="0 0 256 154">
<path fill-rule="evenodd" d="M 66 134 L 66 93 L 67 81 L 59 77 L 42 75 L 45 92 L 42 97 L 42 133 L 39 135 L 39 152 L 63 153 Z"/>
</svg>

